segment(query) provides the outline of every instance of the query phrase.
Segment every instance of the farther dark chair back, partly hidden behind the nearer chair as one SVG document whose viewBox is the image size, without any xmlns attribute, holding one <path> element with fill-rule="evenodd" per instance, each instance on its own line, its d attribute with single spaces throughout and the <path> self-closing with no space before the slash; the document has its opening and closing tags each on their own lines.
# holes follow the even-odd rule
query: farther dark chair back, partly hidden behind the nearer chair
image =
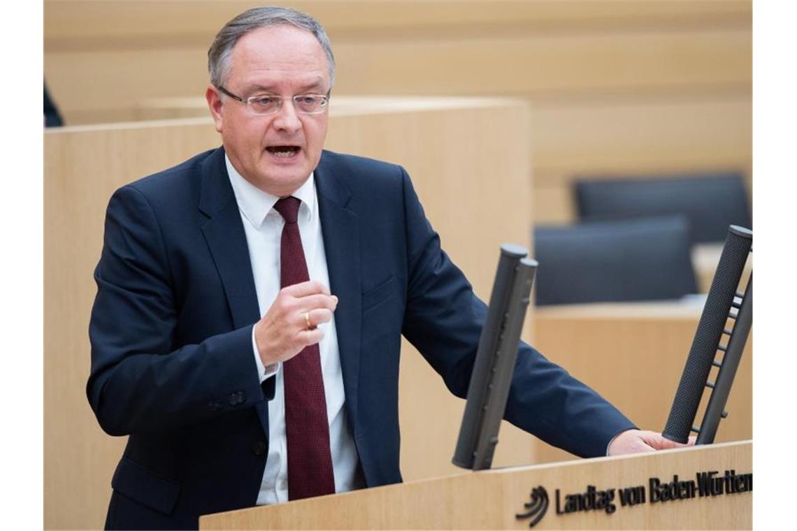
<svg viewBox="0 0 797 531">
<path fill-rule="evenodd" d="M 693 244 L 724 241 L 728 225 L 752 228 L 738 173 L 577 179 L 575 199 L 580 221 L 684 214 Z"/>
</svg>

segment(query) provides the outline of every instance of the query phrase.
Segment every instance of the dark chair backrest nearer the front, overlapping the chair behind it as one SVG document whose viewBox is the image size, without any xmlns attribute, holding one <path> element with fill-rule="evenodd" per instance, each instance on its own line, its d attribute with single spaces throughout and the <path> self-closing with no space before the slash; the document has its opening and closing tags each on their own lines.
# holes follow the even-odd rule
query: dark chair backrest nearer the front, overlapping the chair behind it
<svg viewBox="0 0 797 531">
<path fill-rule="evenodd" d="M 680 299 L 697 293 L 683 216 L 534 229 L 536 302 Z"/>
</svg>

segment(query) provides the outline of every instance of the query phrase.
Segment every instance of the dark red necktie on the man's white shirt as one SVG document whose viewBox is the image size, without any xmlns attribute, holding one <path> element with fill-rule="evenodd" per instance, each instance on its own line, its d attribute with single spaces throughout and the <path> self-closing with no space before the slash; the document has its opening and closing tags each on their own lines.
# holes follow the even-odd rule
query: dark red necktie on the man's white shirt
<svg viewBox="0 0 797 531">
<path fill-rule="evenodd" d="M 281 286 L 310 279 L 301 247 L 300 201 L 283 197 L 274 209 L 285 219 L 280 244 Z M 285 435 L 288 439 L 288 499 L 300 500 L 335 493 L 332 453 L 329 448 L 327 400 L 318 344 L 282 364 L 285 381 Z"/>
</svg>

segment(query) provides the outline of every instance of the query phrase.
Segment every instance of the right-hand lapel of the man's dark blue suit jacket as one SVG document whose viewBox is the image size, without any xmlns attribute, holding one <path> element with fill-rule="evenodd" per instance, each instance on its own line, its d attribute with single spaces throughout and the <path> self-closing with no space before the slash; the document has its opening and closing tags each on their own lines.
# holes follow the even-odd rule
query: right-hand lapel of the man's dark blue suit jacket
<svg viewBox="0 0 797 531">
<path fill-rule="evenodd" d="M 351 192 L 336 178 L 330 166 L 324 154 L 316 168 L 315 179 L 329 288 L 332 295 L 337 295 L 340 300 L 335 312 L 335 326 L 344 376 L 346 409 L 354 432 L 362 326 L 359 221 L 357 214 L 346 208 Z"/>
</svg>

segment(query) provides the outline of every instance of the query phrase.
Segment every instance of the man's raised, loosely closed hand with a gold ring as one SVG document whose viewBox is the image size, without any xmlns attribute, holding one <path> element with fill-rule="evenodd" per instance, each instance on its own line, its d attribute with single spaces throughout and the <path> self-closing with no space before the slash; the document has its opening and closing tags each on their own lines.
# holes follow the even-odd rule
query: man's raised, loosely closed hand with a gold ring
<svg viewBox="0 0 797 531">
<path fill-rule="evenodd" d="M 269 310 L 254 325 L 254 339 L 263 365 L 268 367 L 288 361 L 305 346 L 320 342 L 324 332 L 317 326 L 329 322 L 337 306 L 338 298 L 330 295 L 328 287 L 316 280 L 282 288 Z"/>
</svg>

